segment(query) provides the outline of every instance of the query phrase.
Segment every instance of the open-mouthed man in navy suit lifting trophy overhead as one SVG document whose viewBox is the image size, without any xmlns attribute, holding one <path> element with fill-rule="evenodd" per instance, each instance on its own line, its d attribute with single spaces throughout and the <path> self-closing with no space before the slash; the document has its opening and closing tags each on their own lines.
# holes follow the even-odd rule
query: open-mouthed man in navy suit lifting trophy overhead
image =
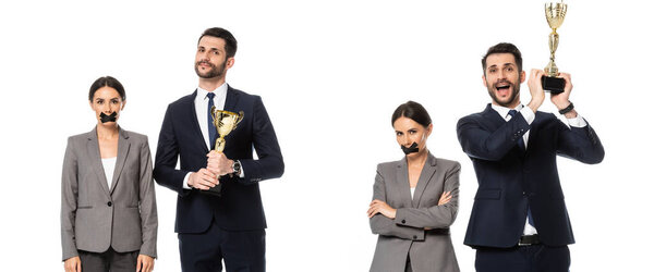
<svg viewBox="0 0 654 272">
<path fill-rule="evenodd" d="M 479 182 L 464 244 L 476 249 L 476 271 L 568 271 L 568 245 L 574 237 L 557 156 L 600 163 L 604 148 L 569 100 L 569 74 L 559 74 L 565 91 L 550 96 L 566 125 L 553 113 L 537 111 L 545 100 L 544 71 L 531 71 L 531 101 L 521 104 L 525 73 L 516 46 L 489 48 L 482 66 L 492 103 L 457 124 Z"/>
</svg>

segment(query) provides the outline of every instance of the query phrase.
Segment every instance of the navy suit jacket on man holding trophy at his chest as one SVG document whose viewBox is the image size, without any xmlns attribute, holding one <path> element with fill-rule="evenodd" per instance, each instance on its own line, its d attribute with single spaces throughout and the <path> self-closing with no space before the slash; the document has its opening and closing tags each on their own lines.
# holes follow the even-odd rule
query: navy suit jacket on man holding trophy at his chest
<svg viewBox="0 0 654 272">
<path fill-rule="evenodd" d="M 221 196 L 183 189 L 184 176 L 207 165 L 209 152 L 195 113 L 197 91 L 170 103 L 166 110 L 155 159 L 155 181 L 178 193 L 178 233 L 202 233 L 211 219 L 225 230 L 266 227 L 258 182 L 280 177 L 283 160 L 277 136 L 261 97 L 228 87 L 225 110 L 244 112 L 238 127 L 226 138 L 225 156 L 241 161 L 245 174 L 220 177 Z M 258 160 L 253 160 L 253 147 Z M 175 169 L 180 160 L 180 169 Z"/>
</svg>

